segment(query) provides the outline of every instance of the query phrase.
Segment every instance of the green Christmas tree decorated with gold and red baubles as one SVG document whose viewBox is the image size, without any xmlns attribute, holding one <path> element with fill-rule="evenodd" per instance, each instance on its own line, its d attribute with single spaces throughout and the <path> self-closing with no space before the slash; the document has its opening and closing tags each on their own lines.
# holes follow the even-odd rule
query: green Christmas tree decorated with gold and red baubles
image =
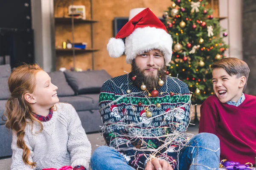
<svg viewBox="0 0 256 170">
<path fill-rule="evenodd" d="M 192 102 L 201 104 L 213 94 L 210 65 L 224 57 L 227 45 L 220 36 L 218 18 L 206 0 L 175 0 L 163 17 L 173 39 L 169 73 L 186 82 L 193 92 Z"/>
</svg>

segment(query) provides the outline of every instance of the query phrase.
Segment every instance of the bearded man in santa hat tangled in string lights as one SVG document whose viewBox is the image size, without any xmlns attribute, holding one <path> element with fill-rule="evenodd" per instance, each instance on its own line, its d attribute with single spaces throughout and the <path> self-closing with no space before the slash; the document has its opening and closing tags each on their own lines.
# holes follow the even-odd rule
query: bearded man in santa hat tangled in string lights
<svg viewBox="0 0 256 170">
<path fill-rule="evenodd" d="M 126 38 L 125 45 L 122 38 Z M 99 112 L 108 146 L 95 150 L 92 169 L 217 169 L 217 136 L 184 133 L 189 124 L 190 93 L 184 82 L 166 71 L 172 37 L 164 24 L 146 8 L 111 38 L 107 49 L 111 57 L 125 51 L 132 67 L 131 73 L 102 85 Z M 111 114 L 113 107 L 118 108 L 119 116 Z"/>
</svg>

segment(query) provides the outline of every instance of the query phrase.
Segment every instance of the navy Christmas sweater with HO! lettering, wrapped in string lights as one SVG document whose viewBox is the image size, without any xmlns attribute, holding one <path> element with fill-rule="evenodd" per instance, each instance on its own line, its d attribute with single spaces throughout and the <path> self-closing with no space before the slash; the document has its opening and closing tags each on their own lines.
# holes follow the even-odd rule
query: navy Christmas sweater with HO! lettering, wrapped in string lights
<svg viewBox="0 0 256 170">
<path fill-rule="evenodd" d="M 151 155 L 177 169 L 177 150 L 188 141 L 188 86 L 168 76 L 157 90 L 159 96 L 148 96 L 133 85 L 130 73 L 107 80 L 99 95 L 105 141 L 135 169 L 144 169 Z"/>
</svg>

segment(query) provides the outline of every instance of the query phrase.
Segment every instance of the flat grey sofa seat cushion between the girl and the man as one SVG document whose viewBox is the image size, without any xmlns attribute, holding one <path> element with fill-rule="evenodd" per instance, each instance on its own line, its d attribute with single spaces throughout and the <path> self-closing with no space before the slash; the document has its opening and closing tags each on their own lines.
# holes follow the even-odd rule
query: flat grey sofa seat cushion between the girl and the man
<svg viewBox="0 0 256 170">
<path fill-rule="evenodd" d="M 87 97 L 69 96 L 69 97 L 59 97 L 59 99 L 60 99 L 60 102 L 67 102 L 73 105 L 76 111 L 86 111 L 86 110 L 95 109 L 95 106 L 93 105 L 93 100 Z"/>
</svg>

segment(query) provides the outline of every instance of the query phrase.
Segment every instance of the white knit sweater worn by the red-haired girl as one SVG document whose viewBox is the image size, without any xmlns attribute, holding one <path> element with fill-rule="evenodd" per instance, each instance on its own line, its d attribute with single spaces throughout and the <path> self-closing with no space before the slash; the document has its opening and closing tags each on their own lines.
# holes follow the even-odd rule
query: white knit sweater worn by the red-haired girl
<svg viewBox="0 0 256 170">
<path fill-rule="evenodd" d="M 42 122 L 43 131 L 38 123 L 33 128 L 25 128 L 24 140 L 30 150 L 29 161 L 36 162 L 36 170 L 43 168 L 60 168 L 66 165 L 84 166 L 90 169 L 91 145 L 81 125 L 75 108 L 68 103 L 56 104 L 48 122 Z M 17 135 L 12 135 L 11 170 L 33 170 L 22 159 L 23 150 L 17 147 Z"/>
</svg>

